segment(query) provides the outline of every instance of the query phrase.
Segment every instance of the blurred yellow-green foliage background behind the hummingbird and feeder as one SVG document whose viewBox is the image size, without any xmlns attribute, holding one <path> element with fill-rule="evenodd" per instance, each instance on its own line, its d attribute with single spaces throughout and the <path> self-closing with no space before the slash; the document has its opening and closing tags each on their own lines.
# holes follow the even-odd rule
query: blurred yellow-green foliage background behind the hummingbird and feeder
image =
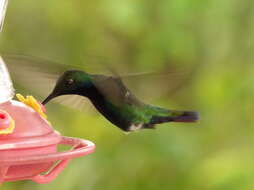
<svg viewBox="0 0 254 190">
<path fill-rule="evenodd" d="M 122 73 L 191 70 L 175 79 L 135 78 L 133 91 L 202 116 L 197 124 L 126 135 L 93 108 L 51 103 L 55 128 L 94 141 L 96 152 L 73 160 L 50 184 L 1 189 L 254 189 L 254 1 L 10 0 L 0 35 L 1 52 L 76 65 L 91 64 L 84 60 L 92 55 Z"/>
</svg>

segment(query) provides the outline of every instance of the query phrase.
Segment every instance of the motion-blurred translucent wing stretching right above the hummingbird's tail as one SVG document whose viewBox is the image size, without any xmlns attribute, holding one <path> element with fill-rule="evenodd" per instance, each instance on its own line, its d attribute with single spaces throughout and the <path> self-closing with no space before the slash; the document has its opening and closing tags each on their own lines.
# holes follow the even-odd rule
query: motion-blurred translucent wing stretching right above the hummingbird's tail
<svg viewBox="0 0 254 190">
<path fill-rule="evenodd" d="M 135 94 L 148 101 L 172 97 L 187 87 L 198 67 L 168 65 L 163 71 L 122 74 L 121 78 Z"/>
</svg>

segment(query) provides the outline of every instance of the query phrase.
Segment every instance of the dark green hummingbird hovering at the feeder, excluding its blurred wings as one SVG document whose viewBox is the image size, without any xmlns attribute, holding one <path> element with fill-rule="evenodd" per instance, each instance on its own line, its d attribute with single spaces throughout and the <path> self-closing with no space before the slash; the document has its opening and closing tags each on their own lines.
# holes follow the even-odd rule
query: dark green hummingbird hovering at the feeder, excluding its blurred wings
<svg viewBox="0 0 254 190">
<path fill-rule="evenodd" d="M 126 132 L 154 129 L 156 124 L 165 122 L 199 120 L 199 114 L 195 111 L 170 110 L 144 103 L 118 76 L 67 70 L 58 78 L 52 92 L 42 104 L 45 105 L 53 98 L 62 95 L 79 95 L 88 98 L 107 120 Z"/>
</svg>

